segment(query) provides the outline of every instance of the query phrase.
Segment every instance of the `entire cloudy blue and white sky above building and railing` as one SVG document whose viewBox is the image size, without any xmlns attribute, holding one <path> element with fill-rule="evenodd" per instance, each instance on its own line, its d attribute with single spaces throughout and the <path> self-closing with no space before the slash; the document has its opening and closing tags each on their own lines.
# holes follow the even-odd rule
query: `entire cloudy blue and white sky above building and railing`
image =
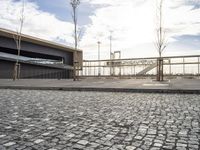
<svg viewBox="0 0 200 150">
<path fill-rule="evenodd" d="M 159 0 L 80 0 L 78 48 L 84 59 L 101 59 L 121 51 L 122 58 L 157 57 L 156 6 Z M 0 28 L 17 31 L 21 0 L 0 0 Z M 25 0 L 23 33 L 73 47 L 70 0 Z M 163 56 L 200 54 L 200 0 L 164 0 Z"/>
</svg>

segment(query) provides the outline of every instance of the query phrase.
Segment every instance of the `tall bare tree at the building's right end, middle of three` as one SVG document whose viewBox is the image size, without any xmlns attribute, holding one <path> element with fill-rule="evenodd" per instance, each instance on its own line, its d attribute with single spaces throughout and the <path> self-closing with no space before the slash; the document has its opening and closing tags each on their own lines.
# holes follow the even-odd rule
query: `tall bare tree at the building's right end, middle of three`
<svg viewBox="0 0 200 150">
<path fill-rule="evenodd" d="M 76 67 L 78 66 L 78 61 L 77 61 L 77 46 L 78 46 L 78 34 L 77 34 L 77 7 L 80 4 L 80 0 L 71 0 L 71 6 L 73 9 L 72 13 L 72 18 L 73 18 L 73 23 L 74 23 L 74 69 L 73 69 L 73 79 L 76 81 Z"/>
</svg>

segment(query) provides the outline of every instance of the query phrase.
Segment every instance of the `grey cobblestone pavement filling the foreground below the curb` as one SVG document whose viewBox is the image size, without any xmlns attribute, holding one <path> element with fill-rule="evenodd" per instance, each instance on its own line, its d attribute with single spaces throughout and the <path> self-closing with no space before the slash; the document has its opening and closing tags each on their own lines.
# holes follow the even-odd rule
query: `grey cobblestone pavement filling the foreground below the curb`
<svg viewBox="0 0 200 150">
<path fill-rule="evenodd" d="M 200 97 L 0 90 L 0 150 L 199 150 Z"/>
</svg>

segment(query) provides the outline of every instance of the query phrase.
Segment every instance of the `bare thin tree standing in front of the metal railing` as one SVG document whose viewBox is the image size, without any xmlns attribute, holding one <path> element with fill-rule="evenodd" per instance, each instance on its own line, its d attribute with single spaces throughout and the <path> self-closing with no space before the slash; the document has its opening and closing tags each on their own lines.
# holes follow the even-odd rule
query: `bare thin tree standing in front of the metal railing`
<svg viewBox="0 0 200 150">
<path fill-rule="evenodd" d="M 156 30 L 156 49 L 159 54 L 157 60 L 157 81 L 163 81 L 163 59 L 162 53 L 167 46 L 166 30 L 163 23 L 163 4 L 165 0 L 157 0 L 157 30 Z"/>
</svg>

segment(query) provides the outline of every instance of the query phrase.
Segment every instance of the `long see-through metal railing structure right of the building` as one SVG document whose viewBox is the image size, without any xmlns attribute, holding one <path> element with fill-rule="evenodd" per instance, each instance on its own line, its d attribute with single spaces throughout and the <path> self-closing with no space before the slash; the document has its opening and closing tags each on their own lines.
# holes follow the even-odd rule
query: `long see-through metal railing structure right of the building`
<svg viewBox="0 0 200 150">
<path fill-rule="evenodd" d="M 200 55 L 163 58 L 164 76 L 200 76 Z M 158 57 L 84 60 L 82 77 L 146 77 L 157 73 Z M 100 74 L 98 74 L 100 70 Z"/>
</svg>

